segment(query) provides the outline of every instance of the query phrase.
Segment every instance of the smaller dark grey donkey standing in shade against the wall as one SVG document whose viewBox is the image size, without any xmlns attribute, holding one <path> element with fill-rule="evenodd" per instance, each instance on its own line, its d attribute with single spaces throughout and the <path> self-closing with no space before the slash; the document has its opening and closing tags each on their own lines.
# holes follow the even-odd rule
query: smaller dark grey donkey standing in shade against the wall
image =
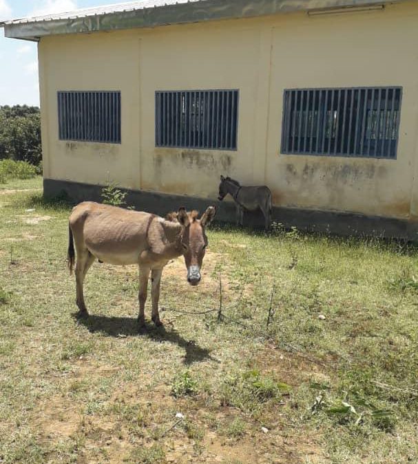
<svg viewBox="0 0 418 464">
<path fill-rule="evenodd" d="M 237 224 L 242 225 L 244 210 L 255 211 L 260 208 L 264 214 L 264 225 L 269 230 L 271 223 L 271 191 L 267 186 L 243 187 L 231 177 L 220 176 L 219 201 L 229 193 L 237 204 Z"/>
</svg>

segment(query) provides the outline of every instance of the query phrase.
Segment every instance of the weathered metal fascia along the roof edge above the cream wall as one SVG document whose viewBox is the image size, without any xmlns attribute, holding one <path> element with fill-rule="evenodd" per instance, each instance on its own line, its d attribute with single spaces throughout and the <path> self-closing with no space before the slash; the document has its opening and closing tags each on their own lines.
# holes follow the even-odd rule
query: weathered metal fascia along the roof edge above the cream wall
<svg viewBox="0 0 418 464">
<path fill-rule="evenodd" d="M 271 14 L 335 8 L 373 7 L 405 0 L 205 0 L 111 12 L 76 18 L 50 19 L 28 23 L 3 21 L 5 36 L 38 41 L 58 34 L 125 30 L 161 25 L 240 19 Z"/>
</svg>

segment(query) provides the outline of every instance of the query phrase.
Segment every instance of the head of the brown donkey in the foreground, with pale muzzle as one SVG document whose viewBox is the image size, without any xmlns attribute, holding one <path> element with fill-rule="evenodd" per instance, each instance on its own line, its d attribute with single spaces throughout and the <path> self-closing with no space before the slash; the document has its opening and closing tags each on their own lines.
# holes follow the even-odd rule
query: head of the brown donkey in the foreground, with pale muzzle
<svg viewBox="0 0 418 464">
<path fill-rule="evenodd" d="M 214 206 L 209 206 L 200 219 L 197 211 L 187 213 L 185 208 L 178 210 L 177 221 L 182 225 L 181 245 L 190 285 L 198 285 L 200 282 L 200 267 L 207 247 L 205 228 L 211 223 L 215 214 Z"/>
</svg>

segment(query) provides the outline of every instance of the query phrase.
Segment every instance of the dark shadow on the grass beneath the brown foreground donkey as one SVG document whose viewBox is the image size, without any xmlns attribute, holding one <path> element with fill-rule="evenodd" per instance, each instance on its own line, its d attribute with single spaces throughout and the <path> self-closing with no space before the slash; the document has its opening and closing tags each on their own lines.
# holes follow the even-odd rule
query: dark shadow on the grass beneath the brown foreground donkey
<svg viewBox="0 0 418 464">
<path fill-rule="evenodd" d="M 166 329 L 164 326 L 155 327 L 154 323 L 151 322 L 147 322 L 143 329 L 138 329 L 136 318 L 95 316 L 92 314 L 86 318 L 77 319 L 77 313 L 72 314 L 72 316 L 79 324 L 85 326 L 90 333 L 101 332 L 115 338 L 143 336 L 155 342 L 165 341 L 177 344 L 180 348 L 185 349 L 184 364 L 193 364 L 203 360 L 219 362 L 210 355 L 208 349 L 201 348 L 194 340 L 182 338 L 175 329 Z"/>
</svg>

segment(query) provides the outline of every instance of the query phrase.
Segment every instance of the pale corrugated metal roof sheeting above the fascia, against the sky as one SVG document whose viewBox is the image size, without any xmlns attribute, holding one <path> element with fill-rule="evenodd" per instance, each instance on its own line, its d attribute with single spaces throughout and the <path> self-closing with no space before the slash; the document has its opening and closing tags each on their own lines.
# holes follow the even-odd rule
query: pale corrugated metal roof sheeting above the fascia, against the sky
<svg viewBox="0 0 418 464">
<path fill-rule="evenodd" d="M 39 21 L 54 21 L 57 19 L 76 19 L 87 18 L 88 16 L 98 16 L 100 14 L 112 14 L 119 12 L 129 12 L 136 10 L 144 10 L 145 8 L 158 8 L 166 5 L 177 5 L 180 3 L 193 3 L 196 1 L 207 0 L 140 0 L 128 1 L 124 3 L 114 3 L 113 5 L 96 6 L 92 8 L 83 8 L 70 12 L 61 12 L 54 14 L 45 14 L 43 16 L 28 16 L 19 19 L 10 19 L 10 21 L 3 21 L 3 24 L 23 24 L 34 23 Z"/>
</svg>

